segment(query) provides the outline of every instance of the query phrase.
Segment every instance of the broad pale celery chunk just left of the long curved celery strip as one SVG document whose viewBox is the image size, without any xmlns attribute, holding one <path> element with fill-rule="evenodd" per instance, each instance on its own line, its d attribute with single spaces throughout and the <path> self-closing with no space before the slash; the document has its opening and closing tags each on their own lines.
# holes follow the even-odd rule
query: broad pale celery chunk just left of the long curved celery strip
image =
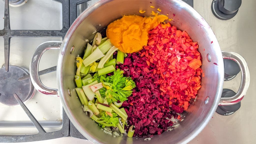
<svg viewBox="0 0 256 144">
<path fill-rule="evenodd" d="M 86 59 L 83 60 L 83 64 L 87 67 L 104 56 L 105 55 L 100 51 L 100 49 L 96 48 Z"/>
</svg>

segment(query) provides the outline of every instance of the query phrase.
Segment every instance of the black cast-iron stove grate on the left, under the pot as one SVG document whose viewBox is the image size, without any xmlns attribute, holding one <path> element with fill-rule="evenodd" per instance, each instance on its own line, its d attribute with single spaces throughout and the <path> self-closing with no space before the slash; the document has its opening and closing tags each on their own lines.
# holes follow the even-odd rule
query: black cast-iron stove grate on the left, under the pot
<svg viewBox="0 0 256 144">
<path fill-rule="evenodd" d="M 10 38 L 12 37 L 62 37 L 64 38 L 69 27 L 77 18 L 77 5 L 86 3 L 91 0 L 54 0 L 62 4 L 62 29 L 61 30 L 12 30 L 10 28 L 9 19 L 9 0 L 5 0 L 4 10 L 4 29 L 0 30 L 0 37 L 4 38 L 4 55 L 5 55 L 5 71 L 9 70 L 9 55 L 10 55 Z M 193 7 L 193 0 L 183 0 Z M 85 4 L 87 5 L 87 4 Z M 51 68 L 49 68 L 51 69 Z M 46 70 L 47 71 L 47 70 Z M 0 142 L 29 142 L 40 141 L 47 139 L 55 139 L 60 137 L 71 136 L 80 139 L 86 139 L 70 122 L 66 112 L 63 109 L 62 128 L 59 131 L 45 132 L 39 122 L 31 114 L 24 103 L 17 95 L 15 98 L 20 106 L 29 116 L 39 133 L 29 136 L 0 136 Z"/>
</svg>

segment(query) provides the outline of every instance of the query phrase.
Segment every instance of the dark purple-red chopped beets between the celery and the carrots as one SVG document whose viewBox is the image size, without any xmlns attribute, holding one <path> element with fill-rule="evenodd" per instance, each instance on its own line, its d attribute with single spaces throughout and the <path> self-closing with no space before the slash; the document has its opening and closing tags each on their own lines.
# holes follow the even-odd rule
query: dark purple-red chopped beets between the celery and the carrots
<svg viewBox="0 0 256 144">
<path fill-rule="evenodd" d="M 177 118 L 176 112 L 184 110 L 174 104 L 169 107 L 169 95 L 162 96 L 159 84 L 154 83 L 159 79 L 158 74 L 153 74 L 155 65 L 148 66 L 146 60 L 146 57 L 140 57 L 140 53 L 133 53 L 128 54 L 123 65 L 116 66 L 136 84 L 132 95 L 122 106 L 128 115 L 128 125 L 135 126 L 134 136 L 138 137 L 163 133 L 173 125 L 170 118 Z"/>
</svg>

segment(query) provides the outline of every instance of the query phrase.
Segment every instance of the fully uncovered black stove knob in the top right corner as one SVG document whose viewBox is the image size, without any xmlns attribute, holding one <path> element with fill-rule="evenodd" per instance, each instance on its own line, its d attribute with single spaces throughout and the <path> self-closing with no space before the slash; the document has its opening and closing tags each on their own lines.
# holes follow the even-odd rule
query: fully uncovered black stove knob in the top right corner
<svg viewBox="0 0 256 144">
<path fill-rule="evenodd" d="M 241 4 L 242 0 L 214 0 L 211 10 L 217 18 L 228 20 L 237 14 Z"/>
</svg>

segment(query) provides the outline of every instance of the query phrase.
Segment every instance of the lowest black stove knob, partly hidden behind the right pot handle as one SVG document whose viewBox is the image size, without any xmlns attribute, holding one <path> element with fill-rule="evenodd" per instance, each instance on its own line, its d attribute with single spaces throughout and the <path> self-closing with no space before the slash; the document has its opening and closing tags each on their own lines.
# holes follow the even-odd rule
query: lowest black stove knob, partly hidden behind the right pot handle
<svg viewBox="0 0 256 144">
<path fill-rule="evenodd" d="M 232 97 L 236 94 L 231 89 L 223 89 L 221 97 L 228 98 Z M 218 106 L 216 109 L 216 112 L 223 116 L 232 115 L 234 112 L 236 112 L 241 107 L 241 102 L 238 102 L 237 104 L 230 105 L 230 106 Z"/>
</svg>

